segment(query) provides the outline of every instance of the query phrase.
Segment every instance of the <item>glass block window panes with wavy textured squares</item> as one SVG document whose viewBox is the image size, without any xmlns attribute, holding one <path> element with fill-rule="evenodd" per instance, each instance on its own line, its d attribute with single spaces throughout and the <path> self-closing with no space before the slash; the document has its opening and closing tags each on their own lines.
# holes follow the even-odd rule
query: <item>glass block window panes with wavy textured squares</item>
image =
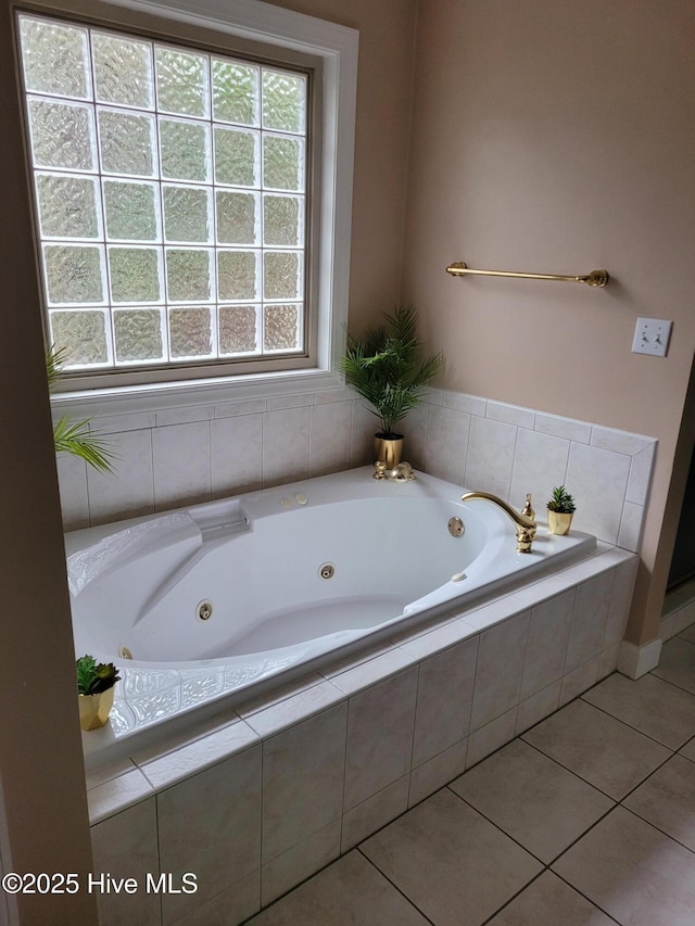
<svg viewBox="0 0 695 926">
<path fill-rule="evenodd" d="M 64 368 L 306 354 L 308 74 L 17 21 L 48 337 Z"/>
</svg>

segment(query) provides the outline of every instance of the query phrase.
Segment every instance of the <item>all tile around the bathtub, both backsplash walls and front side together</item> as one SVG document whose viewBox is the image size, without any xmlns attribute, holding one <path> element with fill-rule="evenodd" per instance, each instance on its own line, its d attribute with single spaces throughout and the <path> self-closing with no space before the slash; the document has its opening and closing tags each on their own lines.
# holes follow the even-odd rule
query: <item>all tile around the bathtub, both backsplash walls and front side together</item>
<svg viewBox="0 0 695 926">
<path fill-rule="evenodd" d="M 67 529 L 371 461 L 346 391 L 97 426 L 118 477 L 59 460 Z M 404 430 L 416 468 L 518 507 L 532 492 L 540 519 L 567 484 L 598 554 L 90 773 L 96 871 L 198 885 L 100 896 L 102 926 L 241 923 L 615 669 L 656 442 L 437 390 Z"/>
</svg>

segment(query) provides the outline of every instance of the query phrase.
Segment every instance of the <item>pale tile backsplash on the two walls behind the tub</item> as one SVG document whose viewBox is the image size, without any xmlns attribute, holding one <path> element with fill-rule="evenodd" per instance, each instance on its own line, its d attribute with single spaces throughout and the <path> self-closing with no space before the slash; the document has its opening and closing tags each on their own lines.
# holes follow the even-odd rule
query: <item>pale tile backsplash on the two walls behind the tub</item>
<svg viewBox="0 0 695 926">
<path fill-rule="evenodd" d="M 60 455 L 65 530 L 363 466 L 375 420 L 349 390 L 98 417 L 117 475 Z M 539 520 L 551 489 L 565 484 L 578 503 L 577 530 L 640 549 L 652 437 L 442 390 L 429 392 L 404 431 L 417 469 L 517 508 L 531 492 Z"/>
</svg>

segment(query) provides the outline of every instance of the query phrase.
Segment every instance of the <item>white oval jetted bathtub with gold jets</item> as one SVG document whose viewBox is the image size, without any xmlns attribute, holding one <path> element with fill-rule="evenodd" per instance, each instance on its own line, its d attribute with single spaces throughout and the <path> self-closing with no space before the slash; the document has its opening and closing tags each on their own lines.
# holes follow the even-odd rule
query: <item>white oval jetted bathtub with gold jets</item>
<svg viewBox="0 0 695 926">
<path fill-rule="evenodd" d="M 463 504 L 465 490 L 431 475 L 371 472 L 67 534 L 76 655 L 123 676 L 90 749 L 173 730 L 595 551 L 593 536 L 541 525 L 518 554 L 495 505 Z"/>
</svg>

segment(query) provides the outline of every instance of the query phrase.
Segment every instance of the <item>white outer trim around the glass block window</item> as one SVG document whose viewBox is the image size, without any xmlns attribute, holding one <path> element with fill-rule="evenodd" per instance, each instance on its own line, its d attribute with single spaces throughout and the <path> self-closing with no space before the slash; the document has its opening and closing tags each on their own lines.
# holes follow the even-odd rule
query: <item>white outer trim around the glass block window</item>
<svg viewBox="0 0 695 926">
<path fill-rule="evenodd" d="M 318 105 L 324 143 L 321 163 L 316 165 L 320 175 L 316 196 L 319 240 L 309 244 L 318 255 L 316 366 L 101 388 L 85 388 L 66 379 L 62 390 L 59 388 L 52 396 L 54 411 L 128 414 L 342 388 L 343 378 L 337 372 L 336 363 L 344 350 L 348 320 L 358 33 L 257 0 L 110 0 L 110 4 L 321 60 L 324 79 Z M 84 14 L 87 21 L 91 10 L 93 17 L 89 0 L 56 0 L 50 4 L 39 0 L 17 4 L 17 9 L 54 15 Z"/>
</svg>

